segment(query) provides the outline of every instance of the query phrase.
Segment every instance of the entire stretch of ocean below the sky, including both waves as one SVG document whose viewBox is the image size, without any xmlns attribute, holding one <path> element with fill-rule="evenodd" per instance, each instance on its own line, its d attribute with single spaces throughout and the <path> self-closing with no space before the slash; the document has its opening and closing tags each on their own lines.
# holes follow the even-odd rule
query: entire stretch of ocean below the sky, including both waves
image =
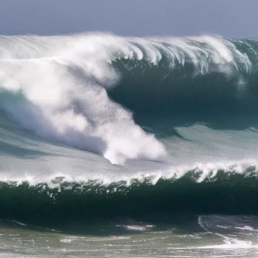
<svg viewBox="0 0 258 258">
<path fill-rule="evenodd" d="M 258 42 L 0 36 L 0 257 L 258 257 Z"/>
</svg>

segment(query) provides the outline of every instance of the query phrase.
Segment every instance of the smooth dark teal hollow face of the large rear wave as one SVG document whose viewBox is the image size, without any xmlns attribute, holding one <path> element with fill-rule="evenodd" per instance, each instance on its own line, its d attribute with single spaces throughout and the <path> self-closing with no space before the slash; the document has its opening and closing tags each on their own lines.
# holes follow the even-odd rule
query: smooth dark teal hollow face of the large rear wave
<svg viewBox="0 0 258 258">
<path fill-rule="evenodd" d="M 156 65 L 148 59 L 117 59 L 112 64 L 122 79 L 108 94 L 136 116 L 172 114 L 207 119 L 217 115 L 255 115 L 258 43 L 224 42 L 229 45 L 231 61 L 216 60 L 216 49 L 194 40 L 187 42 L 188 47 L 197 48 L 190 53 L 183 46 L 175 47 L 183 60 L 162 50 Z M 160 44 L 166 46 L 165 42 Z"/>
</svg>

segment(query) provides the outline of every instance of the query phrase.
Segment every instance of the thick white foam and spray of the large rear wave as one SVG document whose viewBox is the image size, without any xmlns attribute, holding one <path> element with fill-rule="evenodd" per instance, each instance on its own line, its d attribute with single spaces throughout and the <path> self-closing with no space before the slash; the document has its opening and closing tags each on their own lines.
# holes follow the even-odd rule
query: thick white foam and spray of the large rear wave
<svg viewBox="0 0 258 258">
<path fill-rule="evenodd" d="M 193 46 L 190 40 L 205 46 Z M 163 160 L 162 143 L 136 125 L 132 113 L 111 101 L 106 92 L 120 80 L 112 60 L 144 58 L 157 64 L 161 51 L 170 56 L 171 66 L 175 60 L 184 64 L 188 56 L 197 73 L 210 71 L 208 59 L 221 64 L 229 75 L 232 65 L 237 67 L 236 58 L 246 70 L 251 67 L 248 57 L 233 44 L 208 36 L 140 39 L 96 33 L 1 37 L 0 90 L 6 92 L 1 105 L 35 134 L 97 153 L 111 163 Z M 209 58 L 205 61 L 201 55 Z"/>
</svg>

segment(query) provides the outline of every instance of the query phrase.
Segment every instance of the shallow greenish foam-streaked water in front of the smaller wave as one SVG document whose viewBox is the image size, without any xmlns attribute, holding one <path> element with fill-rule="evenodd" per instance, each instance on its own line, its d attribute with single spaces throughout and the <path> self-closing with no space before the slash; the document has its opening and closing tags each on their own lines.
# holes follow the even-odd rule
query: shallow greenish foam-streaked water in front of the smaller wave
<svg viewBox="0 0 258 258">
<path fill-rule="evenodd" d="M 208 218 L 208 219 L 207 219 Z M 209 222 L 223 222 L 224 226 L 209 231 L 185 222 L 182 227 L 163 224 L 123 225 L 124 232 L 107 224 L 81 228 L 69 234 L 54 229 L 39 229 L 2 223 L 2 257 L 255 257 L 258 252 L 257 231 L 252 227 L 233 229 L 232 221 L 248 218 L 200 217 Z M 250 218 L 249 218 L 250 219 Z M 252 220 L 257 218 L 252 218 Z M 200 225 L 202 225 L 200 222 Z M 228 223 L 227 226 L 225 226 Z M 116 227 L 119 227 L 117 225 Z M 236 224 L 235 224 L 236 226 Z M 240 224 L 238 224 L 240 226 Z M 163 229 L 161 229 L 163 227 Z M 215 229 L 217 228 L 217 229 Z M 87 234 L 86 232 L 91 232 Z M 244 240 L 243 240 L 244 239 Z"/>
</svg>

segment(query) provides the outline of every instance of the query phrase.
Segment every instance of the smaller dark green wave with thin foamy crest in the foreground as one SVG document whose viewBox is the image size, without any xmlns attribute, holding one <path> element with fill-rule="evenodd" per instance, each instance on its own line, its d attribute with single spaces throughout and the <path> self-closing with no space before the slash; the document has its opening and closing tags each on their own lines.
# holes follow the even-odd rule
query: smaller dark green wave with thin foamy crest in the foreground
<svg viewBox="0 0 258 258">
<path fill-rule="evenodd" d="M 258 214 L 258 168 L 241 173 L 196 168 L 181 177 L 152 176 L 104 183 L 101 180 L 51 183 L 0 183 L 0 217 L 44 226 L 65 222 L 131 218 L 151 222 L 155 216 L 175 214 Z M 157 222 L 157 221 L 156 221 Z"/>
</svg>

